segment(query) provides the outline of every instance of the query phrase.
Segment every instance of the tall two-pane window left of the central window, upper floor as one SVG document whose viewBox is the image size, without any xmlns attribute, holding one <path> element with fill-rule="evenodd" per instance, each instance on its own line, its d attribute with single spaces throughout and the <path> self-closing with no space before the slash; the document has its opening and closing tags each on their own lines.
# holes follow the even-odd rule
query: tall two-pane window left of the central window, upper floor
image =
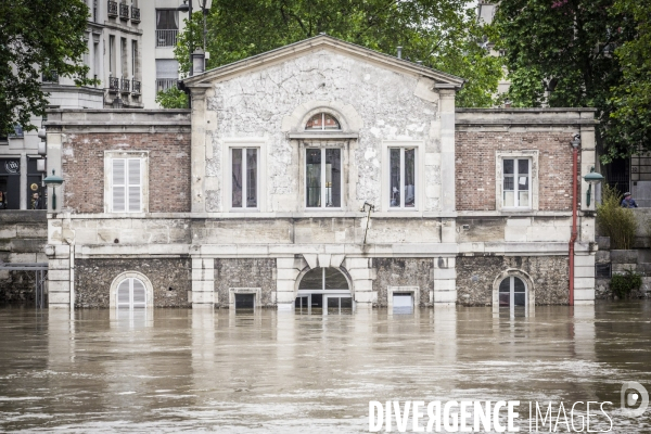
<svg viewBox="0 0 651 434">
<path fill-rule="evenodd" d="M 231 149 L 231 207 L 257 208 L 258 149 Z"/>
</svg>

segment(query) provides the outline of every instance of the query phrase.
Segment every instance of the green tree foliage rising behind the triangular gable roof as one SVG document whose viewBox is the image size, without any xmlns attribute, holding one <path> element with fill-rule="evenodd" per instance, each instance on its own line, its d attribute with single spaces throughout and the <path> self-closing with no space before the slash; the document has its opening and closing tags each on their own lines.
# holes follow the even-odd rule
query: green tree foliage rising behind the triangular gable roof
<svg viewBox="0 0 651 434">
<path fill-rule="evenodd" d="M 207 21 L 208 68 L 327 33 L 335 38 L 468 79 L 459 106 L 490 106 L 502 60 L 480 47 L 492 27 L 467 0 L 214 0 Z M 190 67 L 189 41 L 202 46 L 202 13 L 179 35 L 175 55 Z"/>
</svg>

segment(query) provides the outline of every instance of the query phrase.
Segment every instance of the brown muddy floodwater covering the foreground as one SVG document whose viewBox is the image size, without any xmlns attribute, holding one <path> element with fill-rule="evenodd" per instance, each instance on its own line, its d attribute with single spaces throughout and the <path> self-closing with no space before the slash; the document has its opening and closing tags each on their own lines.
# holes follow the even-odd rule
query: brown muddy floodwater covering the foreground
<svg viewBox="0 0 651 434">
<path fill-rule="evenodd" d="M 0 431 L 361 433 L 370 400 L 471 399 L 519 400 L 521 432 L 529 401 L 587 400 L 613 403 L 611 432 L 651 432 L 651 409 L 620 409 L 624 382 L 651 391 L 650 302 L 73 314 L 0 309 Z"/>
</svg>

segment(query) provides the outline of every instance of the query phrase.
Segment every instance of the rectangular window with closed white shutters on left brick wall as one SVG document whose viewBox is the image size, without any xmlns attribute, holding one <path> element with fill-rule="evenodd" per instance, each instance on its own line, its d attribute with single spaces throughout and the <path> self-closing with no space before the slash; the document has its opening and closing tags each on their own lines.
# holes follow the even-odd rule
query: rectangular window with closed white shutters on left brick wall
<svg viewBox="0 0 651 434">
<path fill-rule="evenodd" d="M 104 209 L 146 213 L 149 176 L 146 152 L 106 152 Z"/>
</svg>

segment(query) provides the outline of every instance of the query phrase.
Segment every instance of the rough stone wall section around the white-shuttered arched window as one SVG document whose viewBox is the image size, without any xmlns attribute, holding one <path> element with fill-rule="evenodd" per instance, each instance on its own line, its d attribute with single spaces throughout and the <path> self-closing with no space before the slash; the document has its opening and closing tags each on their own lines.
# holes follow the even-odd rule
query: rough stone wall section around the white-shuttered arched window
<svg viewBox="0 0 651 434">
<path fill-rule="evenodd" d="M 190 263 L 189 258 L 76 259 L 75 307 L 108 307 L 111 283 L 125 271 L 148 277 L 154 288 L 154 307 L 191 307 Z"/>
</svg>

